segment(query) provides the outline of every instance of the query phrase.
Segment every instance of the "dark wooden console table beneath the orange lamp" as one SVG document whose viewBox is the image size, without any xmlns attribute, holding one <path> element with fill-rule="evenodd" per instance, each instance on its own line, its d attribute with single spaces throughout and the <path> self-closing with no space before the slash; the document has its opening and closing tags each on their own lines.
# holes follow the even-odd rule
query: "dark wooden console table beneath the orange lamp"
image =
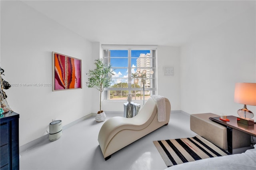
<svg viewBox="0 0 256 170">
<path fill-rule="evenodd" d="M 220 120 L 220 117 L 210 117 L 209 119 L 227 127 L 228 152 L 230 153 L 232 153 L 233 128 L 246 134 L 250 134 L 251 136 L 256 136 L 256 123 L 254 123 L 254 125 L 244 125 L 242 123 L 238 123 L 237 117 L 235 116 L 227 116 L 227 119 L 230 120 L 229 122 Z"/>
</svg>

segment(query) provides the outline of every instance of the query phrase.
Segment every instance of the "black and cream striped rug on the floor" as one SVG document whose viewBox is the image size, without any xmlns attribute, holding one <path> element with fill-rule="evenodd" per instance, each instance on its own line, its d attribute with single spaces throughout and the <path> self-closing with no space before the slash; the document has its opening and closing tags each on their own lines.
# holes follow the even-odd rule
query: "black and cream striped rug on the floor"
<svg viewBox="0 0 256 170">
<path fill-rule="evenodd" d="M 168 167 L 184 162 L 230 154 L 199 135 L 192 138 L 153 142 Z"/>
</svg>

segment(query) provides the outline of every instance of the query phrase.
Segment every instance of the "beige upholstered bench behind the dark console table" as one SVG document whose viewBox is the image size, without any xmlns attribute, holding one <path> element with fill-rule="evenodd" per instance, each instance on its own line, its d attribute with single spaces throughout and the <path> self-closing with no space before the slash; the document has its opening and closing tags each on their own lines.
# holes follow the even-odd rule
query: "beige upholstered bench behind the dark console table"
<svg viewBox="0 0 256 170">
<path fill-rule="evenodd" d="M 219 115 L 213 113 L 190 115 L 190 129 L 220 148 L 228 150 L 226 127 L 211 121 L 209 117 L 219 117 Z M 250 138 L 250 135 L 233 129 L 232 148 L 250 146 Z"/>
</svg>

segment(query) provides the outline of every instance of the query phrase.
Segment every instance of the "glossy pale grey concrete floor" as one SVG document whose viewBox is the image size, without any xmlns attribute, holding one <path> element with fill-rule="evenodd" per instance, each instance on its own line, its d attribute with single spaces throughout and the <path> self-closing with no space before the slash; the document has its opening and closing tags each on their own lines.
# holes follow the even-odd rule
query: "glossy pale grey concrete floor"
<svg viewBox="0 0 256 170">
<path fill-rule="evenodd" d="M 109 119 L 117 114 L 107 114 Z M 95 117 L 63 130 L 60 139 L 47 139 L 20 152 L 20 170 L 163 170 L 167 168 L 153 140 L 192 137 L 190 116 L 171 113 L 168 126 L 161 127 L 104 160 L 98 132 L 104 122 Z M 122 142 L 122 141 L 120 141 Z"/>
</svg>

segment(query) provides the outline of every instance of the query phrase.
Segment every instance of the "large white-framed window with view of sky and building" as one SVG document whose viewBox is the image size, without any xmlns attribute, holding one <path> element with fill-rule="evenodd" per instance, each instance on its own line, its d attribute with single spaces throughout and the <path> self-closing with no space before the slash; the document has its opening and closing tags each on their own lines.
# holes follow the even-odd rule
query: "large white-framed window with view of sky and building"
<svg viewBox="0 0 256 170">
<path fill-rule="evenodd" d="M 126 101 L 132 94 L 132 101 L 143 101 L 143 83 L 137 70 L 146 71 L 145 100 L 156 95 L 156 46 L 102 45 L 102 49 L 104 63 L 111 64 L 114 73 L 114 82 L 105 88 L 103 100 Z"/>
</svg>

